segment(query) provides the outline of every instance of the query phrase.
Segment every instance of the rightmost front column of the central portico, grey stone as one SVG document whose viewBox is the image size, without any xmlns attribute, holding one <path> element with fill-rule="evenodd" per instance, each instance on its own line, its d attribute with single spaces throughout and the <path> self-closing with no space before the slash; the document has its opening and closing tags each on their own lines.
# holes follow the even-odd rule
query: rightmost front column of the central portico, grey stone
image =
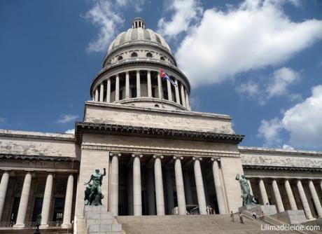
<svg viewBox="0 0 322 234">
<path fill-rule="evenodd" d="M 223 185 L 221 184 L 221 174 L 219 172 L 218 158 L 211 158 L 212 173 L 214 174 L 215 191 L 218 203 L 219 214 L 227 214 L 225 205 L 225 195 L 223 193 Z"/>
</svg>

